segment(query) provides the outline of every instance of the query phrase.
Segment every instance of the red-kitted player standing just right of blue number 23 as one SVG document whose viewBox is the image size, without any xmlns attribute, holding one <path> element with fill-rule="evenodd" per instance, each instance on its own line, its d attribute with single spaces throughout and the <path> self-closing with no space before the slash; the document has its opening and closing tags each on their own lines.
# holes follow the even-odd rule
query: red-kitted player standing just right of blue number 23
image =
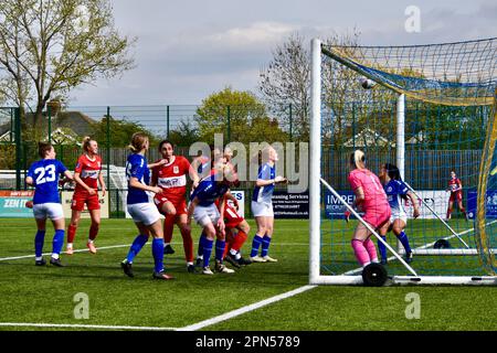
<svg viewBox="0 0 497 353">
<path fill-rule="evenodd" d="M 74 190 L 73 201 L 71 203 L 71 223 L 67 227 L 67 255 L 74 252 L 73 242 L 76 236 L 77 225 L 80 224 L 81 213 L 86 204 L 92 225 L 89 226 L 88 242 L 86 246 L 89 253 L 95 254 L 96 247 L 94 240 L 101 226 L 101 203 L 98 202 L 98 183 L 102 188 L 102 196 L 105 196 L 105 182 L 102 174 L 102 159 L 98 153 L 98 143 L 89 137 L 83 139 L 83 154 L 78 158 L 74 169 L 74 180 L 76 189 Z"/>
</svg>

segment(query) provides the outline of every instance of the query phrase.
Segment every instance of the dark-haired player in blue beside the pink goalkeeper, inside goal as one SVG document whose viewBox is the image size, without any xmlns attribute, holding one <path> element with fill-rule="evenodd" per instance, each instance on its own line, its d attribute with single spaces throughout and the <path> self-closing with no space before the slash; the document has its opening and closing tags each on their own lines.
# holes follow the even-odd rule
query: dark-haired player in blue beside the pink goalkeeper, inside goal
<svg viewBox="0 0 497 353">
<path fill-rule="evenodd" d="M 413 217 L 417 218 L 420 216 L 420 207 L 417 205 L 417 200 L 415 195 L 409 190 L 409 188 L 402 181 L 399 168 L 396 165 L 387 163 L 382 165 L 380 172 L 380 180 L 383 183 L 384 191 L 387 193 L 390 208 L 392 210 L 392 215 L 390 217 L 390 223 L 387 226 L 380 228 L 380 236 L 387 242 L 387 233 L 392 231 L 395 234 L 399 242 L 405 249 L 405 260 L 408 263 L 412 261 L 412 250 L 409 245 L 409 238 L 405 235 L 404 228 L 408 225 L 408 214 L 405 213 L 403 201 L 408 197 L 411 200 L 411 204 L 414 207 Z M 387 264 L 387 247 L 378 242 L 378 248 L 380 249 L 381 264 Z"/>
</svg>

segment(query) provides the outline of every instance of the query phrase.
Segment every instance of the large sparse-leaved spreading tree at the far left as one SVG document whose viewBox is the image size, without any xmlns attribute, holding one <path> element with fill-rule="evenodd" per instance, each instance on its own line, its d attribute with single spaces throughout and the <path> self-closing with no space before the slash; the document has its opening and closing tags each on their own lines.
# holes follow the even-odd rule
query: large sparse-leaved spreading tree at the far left
<svg viewBox="0 0 497 353">
<path fill-rule="evenodd" d="M 21 108 L 34 104 L 34 125 L 55 95 L 133 67 L 135 39 L 114 28 L 108 0 L 2 0 L 0 93 Z"/>
</svg>

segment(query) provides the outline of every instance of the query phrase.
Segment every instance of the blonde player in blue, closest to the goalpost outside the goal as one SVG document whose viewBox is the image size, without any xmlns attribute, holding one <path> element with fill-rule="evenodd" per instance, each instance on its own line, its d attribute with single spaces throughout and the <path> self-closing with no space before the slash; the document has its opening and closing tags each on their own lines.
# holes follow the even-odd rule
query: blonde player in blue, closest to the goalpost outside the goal
<svg viewBox="0 0 497 353">
<path fill-rule="evenodd" d="M 253 263 L 276 263 L 277 259 L 268 255 L 269 244 L 274 232 L 273 213 L 273 191 L 277 183 L 286 183 L 287 180 L 281 175 L 276 176 L 275 163 L 278 154 L 273 147 L 263 150 L 263 164 L 258 169 L 257 181 L 255 182 L 254 194 L 252 197 L 252 214 L 257 224 L 257 233 L 252 240 L 251 260 Z M 258 248 L 262 247 L 261 256 Z"/>
</svg>

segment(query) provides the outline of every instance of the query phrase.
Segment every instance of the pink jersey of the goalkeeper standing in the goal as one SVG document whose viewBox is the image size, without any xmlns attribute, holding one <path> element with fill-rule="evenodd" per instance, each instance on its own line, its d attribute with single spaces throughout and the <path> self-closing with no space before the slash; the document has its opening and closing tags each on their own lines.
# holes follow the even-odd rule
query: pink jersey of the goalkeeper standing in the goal
<svg viewBox="0 0 497 353">
<path fill-rule="evenodd" d="M 362 210 L 364 212 L 383 213 L 390 210 L 389 201 L 380 179 L 367 169 L 355 169 L 349 174 L 349 183 L 352 190 L 362 188 L 364 201 Z"/>
</svg>

